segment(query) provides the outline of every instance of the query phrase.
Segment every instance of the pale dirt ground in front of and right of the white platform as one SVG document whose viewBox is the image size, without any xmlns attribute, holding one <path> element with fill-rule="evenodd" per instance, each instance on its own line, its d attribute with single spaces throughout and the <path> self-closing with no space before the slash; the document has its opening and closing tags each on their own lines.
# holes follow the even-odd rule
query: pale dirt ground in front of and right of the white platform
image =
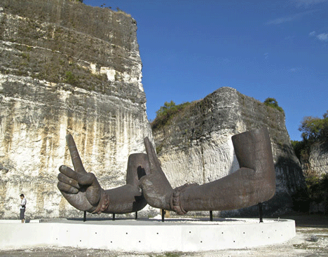
<svg viewBox="0 0 328 257">
<path fill-rule="evenodd" d="M 266 256 L 266 257 L 328 257 L 328 216 L 320 215 L 295 215 L 284 216 L 283 218 L 294 219 L 296 222 L 296 237 L 285 242 L 284 244 L 275 244 L 271 246 L 262 246 L 252 249 L 238 250 L 221 250 L 221 251 L 206 251 L 200 253 L 182 253 L 182 252 L 167 252 L 167 253 L 135 253 L 135 252 L 116 252 L 97 249 L 77 249 L 71 247 L 36 247 L 31 249 L 7 250 L 0 249 L 0 256 L 32 256 L 32 257 L 87 257 L 87 256 L 103 256 L 103 257 L 217 257 L 217 256 Z"/>
</svg>

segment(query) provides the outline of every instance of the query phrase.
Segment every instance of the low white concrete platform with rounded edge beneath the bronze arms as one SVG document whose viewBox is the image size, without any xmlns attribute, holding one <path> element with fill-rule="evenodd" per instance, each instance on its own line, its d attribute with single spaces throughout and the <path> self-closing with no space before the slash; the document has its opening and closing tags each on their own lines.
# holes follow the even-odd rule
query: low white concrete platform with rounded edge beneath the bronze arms
<svg viewBox="0 0 328 257">
<path fill-rule="evenodd" d="M 39 223 L 38 223 L 39 221 Z M 280 244 L 296 235 L 293 220 L 257 218 L 49 219 L 0 221 L 1 249 L 71 246 L 112 251 L 214 251 Z"/>
</svg>

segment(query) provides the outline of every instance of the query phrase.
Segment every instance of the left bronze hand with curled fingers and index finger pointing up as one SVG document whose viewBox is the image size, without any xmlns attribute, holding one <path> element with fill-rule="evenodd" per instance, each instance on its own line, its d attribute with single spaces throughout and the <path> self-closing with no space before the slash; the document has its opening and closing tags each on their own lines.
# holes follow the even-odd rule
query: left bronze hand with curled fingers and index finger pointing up
<svg viewBox="0 0 328 257">
<path fill-rule="evenodd" d="M 95 175 L 84 169 L 71 134 L 67 134 L 66 141 L 74 170 L 64 165 L 60 166 L 57 187 L 76 209 L 93 212 L 97 209 L 104 190 Z"/>
</svg>

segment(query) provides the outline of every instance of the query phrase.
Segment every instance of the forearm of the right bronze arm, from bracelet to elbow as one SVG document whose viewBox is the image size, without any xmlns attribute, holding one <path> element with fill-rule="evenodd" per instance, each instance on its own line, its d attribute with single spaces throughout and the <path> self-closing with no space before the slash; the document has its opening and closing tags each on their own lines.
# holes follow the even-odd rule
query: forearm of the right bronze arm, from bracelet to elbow
<svg viewBox="0 0 328 257">
<path fill-rule="evenodd" d="M 261 180 L 253 169 L 241 168 L 233 174 L 201 186 L 189 186 L 179 197 L 187 211 L 231 210 L 249 207 L 271 199 L 275 185 Z M 259 186 L 258 181 L 263 183 Z"/>
</svg>

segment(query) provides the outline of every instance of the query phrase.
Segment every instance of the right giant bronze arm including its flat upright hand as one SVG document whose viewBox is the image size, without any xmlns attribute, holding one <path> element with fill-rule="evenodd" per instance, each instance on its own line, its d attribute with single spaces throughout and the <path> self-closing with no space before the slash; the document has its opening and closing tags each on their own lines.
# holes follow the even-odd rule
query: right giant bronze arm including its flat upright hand
<svg viewBox="0 0 328 257">
<path fill-rule="evenodd" d="M 141 187 L 149 205 L 186 214 L 187 211 L 240 209 L 271 199 L 275 194 L 275 168 L 271 142 L 266 128 L 232 137 L 240 169 L 217 181 L 184 185 L 172 189 L 156 153 L 144 139 L 150 174 L 142 177 Z"/>
</svg>

